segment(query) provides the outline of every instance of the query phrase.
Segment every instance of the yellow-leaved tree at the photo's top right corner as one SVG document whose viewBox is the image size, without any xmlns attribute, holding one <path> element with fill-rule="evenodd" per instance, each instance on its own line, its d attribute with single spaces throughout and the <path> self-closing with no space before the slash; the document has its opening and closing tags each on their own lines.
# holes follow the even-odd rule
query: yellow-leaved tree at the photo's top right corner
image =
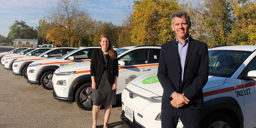
<svg viewBox="0 0 256 128">
<path fill-rule="evenodd" d="M 236 22 L 233 25 L 229 39 L 234 44 L 256 44 L 256 4 L 244 0 L 234 0 L 232 3 Z"/>
</svg>

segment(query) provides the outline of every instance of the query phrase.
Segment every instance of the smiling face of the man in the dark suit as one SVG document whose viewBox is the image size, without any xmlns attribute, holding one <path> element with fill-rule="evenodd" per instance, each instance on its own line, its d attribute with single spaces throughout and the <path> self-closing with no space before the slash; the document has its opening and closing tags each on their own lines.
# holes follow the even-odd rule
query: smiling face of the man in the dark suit
<svg viewBox="0 0 256 128">
<path fill-rule="evenodd" d="M 185 17 L 174 17 L 172 30 L 175 31 L 178 40 L 185 40 L 189 36 L 188 29 L 190 28 L 190 26 L 191 25 L 186 22 Z"/>
</svg>

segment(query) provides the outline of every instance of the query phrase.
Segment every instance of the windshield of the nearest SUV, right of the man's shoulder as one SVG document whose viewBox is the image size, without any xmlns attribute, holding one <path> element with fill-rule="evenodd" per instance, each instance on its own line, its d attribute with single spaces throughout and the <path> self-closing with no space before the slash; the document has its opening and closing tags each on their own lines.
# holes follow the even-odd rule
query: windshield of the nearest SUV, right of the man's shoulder
<svg viewBox="0 0 256 128">
<path fill-rule="evenodd" d="M 230 78 L 251 54 L 250 51 L 209 50 L 209 76 Z"/>
</svg>

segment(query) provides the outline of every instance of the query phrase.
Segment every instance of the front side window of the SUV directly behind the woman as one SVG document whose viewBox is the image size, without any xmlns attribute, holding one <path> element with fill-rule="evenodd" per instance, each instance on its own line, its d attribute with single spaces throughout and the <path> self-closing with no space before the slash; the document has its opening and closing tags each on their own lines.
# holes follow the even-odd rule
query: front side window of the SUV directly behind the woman
<svg viewBox="0 0 256 128">
<path fill-rule="evenodd" d="M 149 49 L 134 50 L 127 53 L 119 60 L 123 60 L 125 65 L 148 64 Z"/>
</svg>

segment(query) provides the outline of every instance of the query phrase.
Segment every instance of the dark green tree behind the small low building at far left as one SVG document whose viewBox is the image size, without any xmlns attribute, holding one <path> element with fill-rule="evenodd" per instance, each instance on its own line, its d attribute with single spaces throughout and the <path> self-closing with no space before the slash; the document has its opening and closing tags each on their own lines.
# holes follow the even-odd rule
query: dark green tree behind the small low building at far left
<svg viewBox="0 0 256 128">
<path fill-rule="evenodd" d="M 37 38 L 37 30 L 26 25 L 24 21 L 17 21 L 10 26 L 10 32 L 7 36 L 9 40 L 13 39 L 35 39 Z"/>
</svg>

